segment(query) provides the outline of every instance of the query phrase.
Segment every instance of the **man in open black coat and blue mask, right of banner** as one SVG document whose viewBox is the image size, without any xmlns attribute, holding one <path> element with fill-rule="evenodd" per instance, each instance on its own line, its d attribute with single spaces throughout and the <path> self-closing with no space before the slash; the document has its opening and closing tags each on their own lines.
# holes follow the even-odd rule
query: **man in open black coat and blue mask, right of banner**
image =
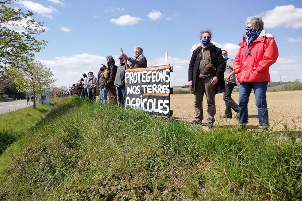
<svg viewBox="0 0 302 201">
<path fill-rule="evenodd" d="M 207 99 L 207 127 L 212 128 L 216 114 L 216 93 L 225 92 L 224 71 L 225 60 L 221 49 L 211 43 L 212 33 L 210 30 L 201 32 L 201 45 L 192 54 L 188 80 L 195 95 L 195 118 L 194 124 L 201 124 L 203 120 L 202 101 L 204 94 Z"/>
</svg>

